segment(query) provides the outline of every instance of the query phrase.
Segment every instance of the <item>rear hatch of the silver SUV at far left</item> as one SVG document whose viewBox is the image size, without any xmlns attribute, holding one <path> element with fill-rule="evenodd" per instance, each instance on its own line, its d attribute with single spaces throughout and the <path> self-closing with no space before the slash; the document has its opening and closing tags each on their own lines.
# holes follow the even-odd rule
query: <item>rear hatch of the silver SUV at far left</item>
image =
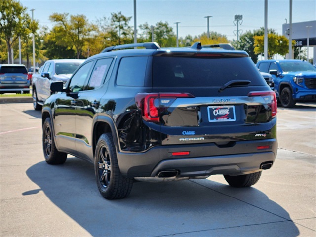
<svg viewBox="0 0 316 237">
<path fill-rule="evenodd" d="M 0 80 L 1 84 L 8 86 L 27 84 L 28 72 L 24 66 L 1 66 Z"/>
</svg>

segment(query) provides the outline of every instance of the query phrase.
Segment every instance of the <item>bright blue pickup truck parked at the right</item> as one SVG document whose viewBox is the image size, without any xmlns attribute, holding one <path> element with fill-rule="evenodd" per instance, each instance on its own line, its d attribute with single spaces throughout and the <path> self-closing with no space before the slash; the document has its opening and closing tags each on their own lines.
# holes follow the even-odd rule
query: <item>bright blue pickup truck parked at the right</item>
<svg viewBox="0 0 316 237">
<path fill-rule="evenodd" d="M 274 91 L 284 108 L 293 108 L 297 102 L 316 102 L 316 68 L 309 62 L 263 60 L 257 67 L 274 77 Z"/>
</svg>

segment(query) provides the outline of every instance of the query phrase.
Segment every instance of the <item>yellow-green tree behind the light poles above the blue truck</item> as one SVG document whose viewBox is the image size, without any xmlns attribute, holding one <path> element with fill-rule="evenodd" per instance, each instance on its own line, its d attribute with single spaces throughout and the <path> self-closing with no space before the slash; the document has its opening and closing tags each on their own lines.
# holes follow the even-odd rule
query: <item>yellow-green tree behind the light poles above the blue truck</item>
<svg viewBox="0 0 316 237">
<path fill-rule="evenodd" d="M 264 52 L 264 36 L 254 36 L 254 52 L 261 54 Z M 293 40 L 293 45 L 295 41 Z M 268 34 L 268 58 L 272 59 L 274 55 L 285 56 L 288 53 L 289 40 L 285 36 L 275 33 Z M 264 55 L 266 56 L 266 55 Z"/>
</svg>

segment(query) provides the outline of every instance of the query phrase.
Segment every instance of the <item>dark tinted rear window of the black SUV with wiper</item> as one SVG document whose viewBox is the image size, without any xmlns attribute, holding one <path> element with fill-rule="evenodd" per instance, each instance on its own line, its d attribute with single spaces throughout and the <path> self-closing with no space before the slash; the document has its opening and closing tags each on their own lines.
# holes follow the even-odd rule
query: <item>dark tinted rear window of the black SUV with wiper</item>
<svg viewBox="0 0 316 237">
<path fill-rule="evenodd" d="M 266 84 L 249 57 L 153 57 L 155 87 L 222 86 L 231 80 L 250 80 L 249 85 Z"/>
</svg>

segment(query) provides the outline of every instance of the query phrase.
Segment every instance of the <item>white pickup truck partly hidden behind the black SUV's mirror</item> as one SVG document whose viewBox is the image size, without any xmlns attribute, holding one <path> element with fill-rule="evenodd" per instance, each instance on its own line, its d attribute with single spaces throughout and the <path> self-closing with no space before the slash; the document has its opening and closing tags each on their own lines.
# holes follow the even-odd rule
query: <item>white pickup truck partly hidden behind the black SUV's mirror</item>
<svg viewBox="0 0 316 237">
<path fill-rule="evenodd" d="M 63 81 L 65 84 L 83 62 L 83 59 L 47 60 L 39 73 L 32 76 L 34 109 L 41 110 L 43 102 L 51 95 L 50 84 L 53 81 Z"/>
</svg>

